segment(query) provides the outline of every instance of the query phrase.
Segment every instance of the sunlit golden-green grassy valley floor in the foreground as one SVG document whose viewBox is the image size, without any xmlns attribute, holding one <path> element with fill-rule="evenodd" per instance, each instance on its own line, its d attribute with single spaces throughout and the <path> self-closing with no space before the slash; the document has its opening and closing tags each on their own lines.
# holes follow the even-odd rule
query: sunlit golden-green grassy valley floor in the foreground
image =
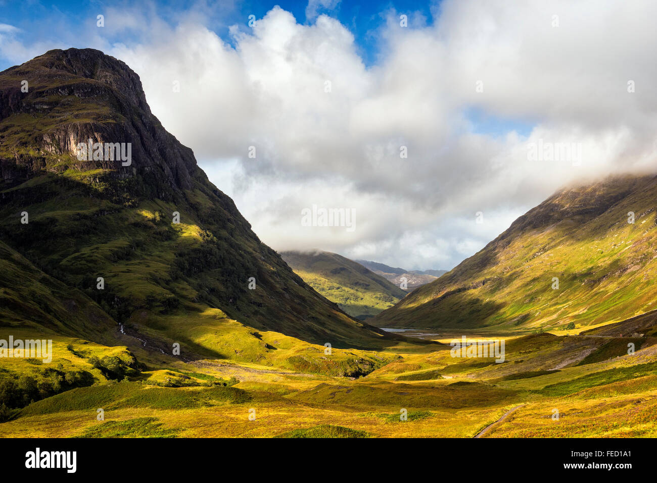
<svg viewBox="0 0 657 483">
<path fill-rule="evenodd" d="M 147 379 L 96 383 L 33 402 L 0 431 L 5 437 L 657 436 L 657 339 L 637 339 L 636 352 L 627 354 L 627 337 L 591 335 L 506 337 L 503 363 L 454 358 L 448 344 L 379 354 L 393 362 L 359 378 L 177 360 Z M 157 385 L 185 374 L 239 383 Z"/>
</svg>

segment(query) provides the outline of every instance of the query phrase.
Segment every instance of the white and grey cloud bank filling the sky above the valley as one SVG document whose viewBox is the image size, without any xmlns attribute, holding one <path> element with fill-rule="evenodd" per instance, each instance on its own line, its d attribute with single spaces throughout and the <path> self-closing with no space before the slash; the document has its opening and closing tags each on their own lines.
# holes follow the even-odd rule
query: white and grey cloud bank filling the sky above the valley
<svg viewBox="0 0 657 483">
<path fill-rule="evenodd" d="M 654 2 L 443 1 L 432 23 L 386 7 L 373 64 L 334 1 L 311 0 L 306 22 L 245 16 L 229 39 L 204 8 L 106 11 L 112 35 L 94 15 L 75 42 L 139 74 L 277 250 L 451 268 L 560 186 L 654 166 Z M 53 47 L 0 26 L 13 62 Z M 353 209 L 356 229 L 303 226 L 313 205 Z"/>
</svg>

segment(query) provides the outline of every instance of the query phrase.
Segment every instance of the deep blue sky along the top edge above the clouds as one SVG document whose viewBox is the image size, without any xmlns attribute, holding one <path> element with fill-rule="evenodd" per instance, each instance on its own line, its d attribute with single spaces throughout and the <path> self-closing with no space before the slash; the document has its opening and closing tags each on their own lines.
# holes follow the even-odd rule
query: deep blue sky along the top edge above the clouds
<svg viewBox="0 0 657 483">
<path fill-rule="evenodd" d="M 30 41 L 68 41 L 69 47 L 85 47 L 80 36 L 76 35 L 76 30 L 95 29 L 96 15 L 102 14 L 108 7 L 127 9 L 145 5 L 140 2 L 130 1 L 13 1 L 2 0 L 0 6 L 0 24 L 9 24 L 21 30 L 18 35 L 19 39 Z M 215 31 L 224 41 L 231 44 L 233 38 L 229 35 L 229 26 L 244 25 L 248 22 L 249 15 L 255 15 L 256 18 L 262 18 L 275 5 L 279 5 L 284 10 L 294 14 L 296 20 L 300 23 L 311 23 L 315 18 L 307 18 L 307 3 L 300 1 L 282 0 L 277 2 L 244 0 L 244 1 L 218 1 L 218 2 L 198 2 L 198 1 L 153 1 L 149 2 L 158 16 L 164 20 L 175 24 L 181 15 L 181 12 L 198 10 L 203 12 L 206 26 Z M 337 18 L 353 33 L 356 43 L 359 47 L 359 54 L 366 65 L 370 66 L 377 60 L 379 52 L 378 39 L 375 32 L 384 25 L 384 13 L 394 10 L 407 14 L 411 20 L 409 24 L 422 26 L 431 24 L 433 21 L 433 12 L 437 12 L 440 7 L 440 1 L 429 3 L 420 0 L 385 0 L 371 1 L 364 0 L 358 2 L 340 1 L 333 8 L 325 8 L 319 5 L 318 14 L 327 14 Z M 62 35 L 64 33 L 64 35 Z M 104 32 L 108 39 L 115 42 L 131 43 L 138 40 L 135 32 L 125 36 L 125 32 L 112 35 L 112 31 Z M 76 37 L 78 39 L 76 40 Z M 11 67 L 12 63 L 7 58 L 0 58 L 0 70 Z"/>
</svg>

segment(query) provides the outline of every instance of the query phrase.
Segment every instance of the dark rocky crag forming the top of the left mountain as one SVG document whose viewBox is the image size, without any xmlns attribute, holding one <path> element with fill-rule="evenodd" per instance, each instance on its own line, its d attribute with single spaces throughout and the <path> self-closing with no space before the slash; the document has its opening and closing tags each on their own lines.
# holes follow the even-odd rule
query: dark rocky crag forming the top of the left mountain
<svg viewBox="0 0 657 483">
<path fill-rule="evenodd" d="M 21 90 L 22 81 L 28 81 L 27 93 Z M 30 130 L 29 117 L 57 123 Z M 21 125 L 28 129 L 16 133 Z M 139 76 L 124 62 L 94 49 L 49 51 L 0 73 L 0 127 L 4 180 L 68 168 L 112 169 L 118 177 L 150 171 L 177 191 L 191 188 L 198 170 L 192 150 L 150 112 Z M 89 140 L 131 143 L 131 165 L 79 161 L 76 146 Z"/>
</svg>

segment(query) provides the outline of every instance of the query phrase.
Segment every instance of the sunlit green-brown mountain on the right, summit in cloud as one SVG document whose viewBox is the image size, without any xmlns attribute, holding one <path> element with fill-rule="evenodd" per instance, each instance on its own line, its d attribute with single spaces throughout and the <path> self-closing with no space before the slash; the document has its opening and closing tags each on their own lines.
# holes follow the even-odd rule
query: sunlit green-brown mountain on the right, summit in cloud
<svg viewBox="0 0 657 483">
<path fill-rule="evenodd" d="M 656 200 L 653 176 L 614 176 L 559 190 L 372 322 L 560 329 L 648 312 L 657 295 Z"/>
</svg>

